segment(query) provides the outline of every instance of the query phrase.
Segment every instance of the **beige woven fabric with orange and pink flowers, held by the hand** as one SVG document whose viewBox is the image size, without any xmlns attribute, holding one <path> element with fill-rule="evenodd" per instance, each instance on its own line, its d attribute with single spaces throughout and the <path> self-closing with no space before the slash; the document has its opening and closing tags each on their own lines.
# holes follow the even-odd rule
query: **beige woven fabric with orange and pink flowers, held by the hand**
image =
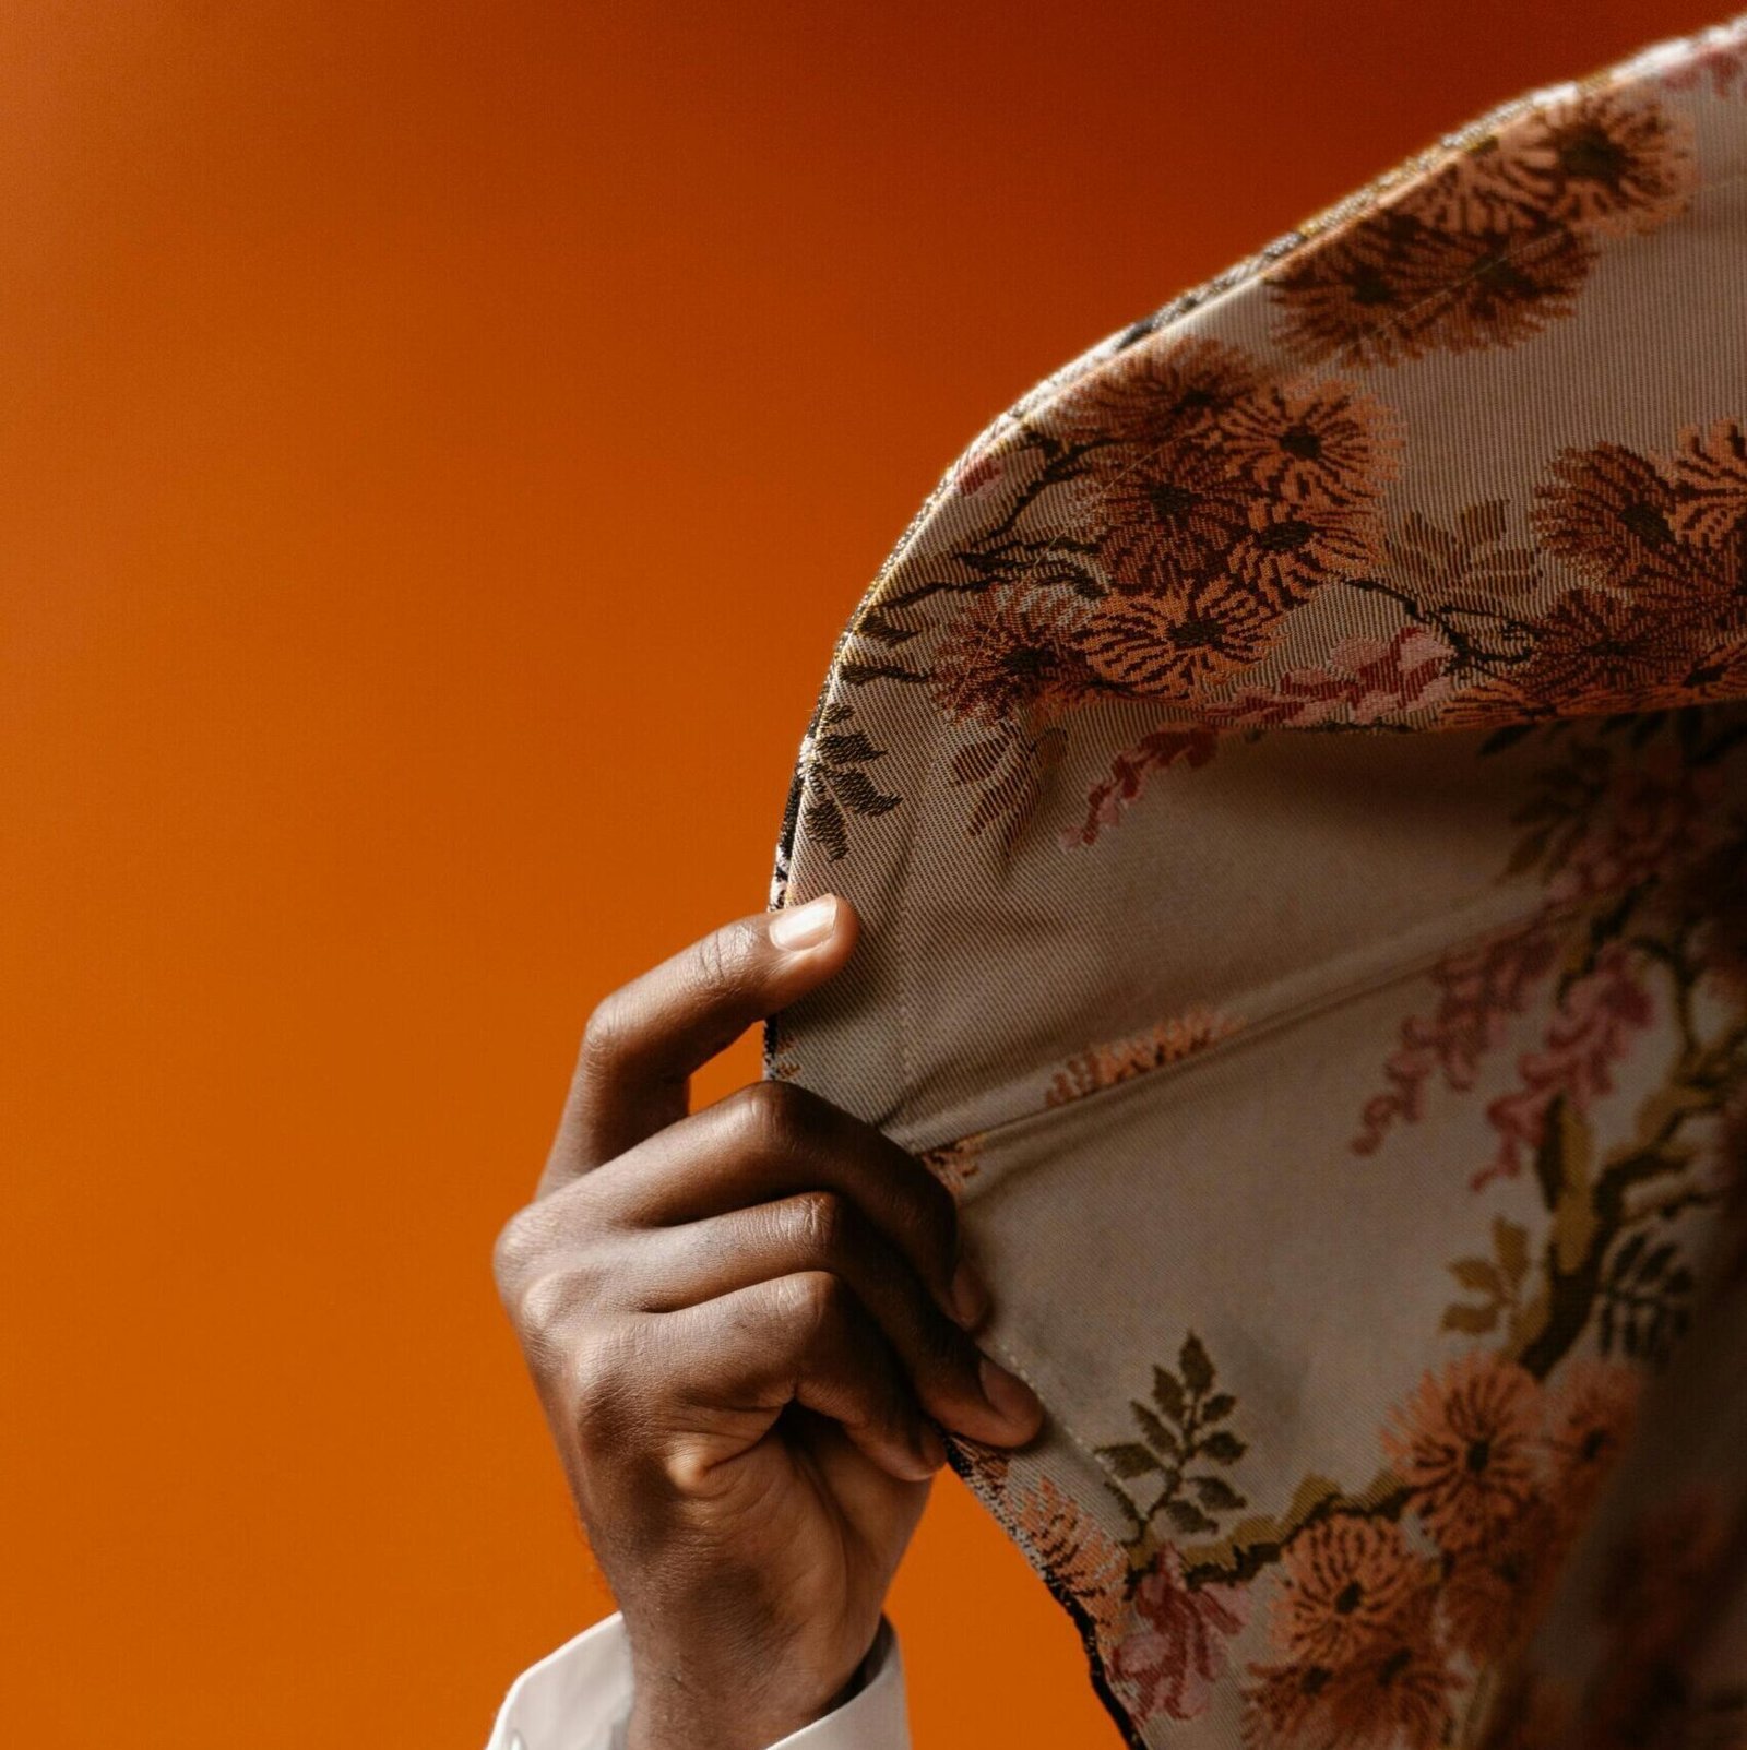
<svg viewBox="0 0 1747 1750">
<path fill-rule="evenodd" d="M 1747 19 L 1026 394 L 833 653 L 767 1074 L 1042 1396 L 1131 1745 L 1747 1746 Z"/>
</svg>

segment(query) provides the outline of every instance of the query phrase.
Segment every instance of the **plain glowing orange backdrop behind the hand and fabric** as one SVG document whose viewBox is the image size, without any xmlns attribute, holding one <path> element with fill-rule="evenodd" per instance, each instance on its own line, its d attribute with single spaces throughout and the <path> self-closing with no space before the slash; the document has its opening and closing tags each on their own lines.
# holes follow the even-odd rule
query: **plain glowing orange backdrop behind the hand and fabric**
<svg viewBox="0 0 1747 1750">
<path fill-rule="evenodd" d="M 609 1608 L 488 1274 L 1021 390 L 1696 5 L 0 14 L 5 1736 L 480 1746 Z M 705 1080 L 756 1073 L 742 1041 Z M 921 1750 L 1115 1745 L 951 1475 Z"/>
</svg>

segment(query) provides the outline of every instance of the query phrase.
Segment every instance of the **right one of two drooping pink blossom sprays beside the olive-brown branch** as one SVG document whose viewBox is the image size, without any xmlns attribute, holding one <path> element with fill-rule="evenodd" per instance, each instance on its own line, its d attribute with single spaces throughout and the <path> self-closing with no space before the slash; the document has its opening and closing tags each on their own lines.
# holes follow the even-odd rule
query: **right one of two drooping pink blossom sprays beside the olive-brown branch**
<svg viewBox="0 0 1747 1750">
<path fill-rule="evenodd" d="M 1644 968 L 1630 948 L 1609 943 L 1596 956 L 1595 970 L 1565 992 L 1547 1027 L 1546 1046 L 1525 1052 L 1518 1062 L 1523 1085 L 1486 1108 L 1498 1130 L 1498 1157 L 1476 1180 L 1474 1188 L 1495 1178 L 1516 1178 L 1523 1157 L 1540 1148 L 1547 1111 L 1561 1097 L 1572 1111 L 1588 1111 L 1600 1094 L 1614 1087 L 1612 1066 L 1631 1048 L 1654 1015 L 1644 985 Z"/>
</svg>

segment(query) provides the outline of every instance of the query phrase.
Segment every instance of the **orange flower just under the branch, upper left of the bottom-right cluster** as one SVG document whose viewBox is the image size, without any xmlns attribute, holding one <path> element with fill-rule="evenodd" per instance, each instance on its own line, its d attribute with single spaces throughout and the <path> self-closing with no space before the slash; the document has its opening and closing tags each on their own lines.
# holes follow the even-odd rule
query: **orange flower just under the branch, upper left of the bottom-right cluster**
<svg viewBox="0 0 1747 1750">
<path fill-rule="evenodd" d="M 1294 1538 L 1281 1559 L 1274 1645 L 1309 1664 L 1350 1664 L 1421 1600 L 1432 1575 L 1399 1524 L 1327 1519 Z"/>
</svg>

